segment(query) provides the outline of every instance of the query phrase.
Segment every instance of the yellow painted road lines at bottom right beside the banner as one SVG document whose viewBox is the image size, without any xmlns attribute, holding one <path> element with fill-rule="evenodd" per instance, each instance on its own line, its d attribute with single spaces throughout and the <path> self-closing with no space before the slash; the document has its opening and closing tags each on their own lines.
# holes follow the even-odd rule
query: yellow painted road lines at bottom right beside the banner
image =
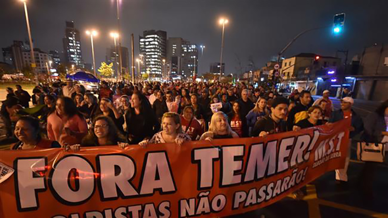
<svg viewBox="0 0 388 218">
<path fill-rule="evenodd" d="M 325 205 L 333 208 L 337 208 L 352 213 L 358 213 L 375 218 L 388 218 L 388 214 L 382 214 L 375 211 L 365 210 L 357 207 L 352 207 L 345 204 L 339 204 L 328 200 L 319 199 L 317 195 L 317 189 L 315 185 L 307 184 L 307 195 L 303 197 L 303 200 L 307 201 L 308 204 L 308 215 L 309 218 L 321 218 L 321 212 L 319 205 Z"/>
</svg>

